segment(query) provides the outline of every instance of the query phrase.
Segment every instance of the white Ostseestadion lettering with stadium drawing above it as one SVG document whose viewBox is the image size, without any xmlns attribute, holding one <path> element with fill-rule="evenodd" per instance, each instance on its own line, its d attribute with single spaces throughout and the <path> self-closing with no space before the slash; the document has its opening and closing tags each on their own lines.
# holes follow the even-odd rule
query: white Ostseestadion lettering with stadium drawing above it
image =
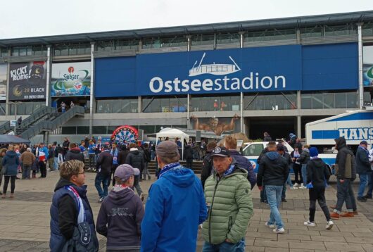
<svg viewBox="0 0 373 252">
<path fill-rule="evenodd" d="M 175 77 L 174 80 L 163 80 L 161 77 L 153 77 L 149 82 L 149 89 L 153 93 L 170 93 L 170 92 L 209 92 L 209 91 L 245 91 L 255 89 L 285 89 L 286 77 L 283 75 L 276 76 L 261 76 L 259 73 L 251 72 L 246 77 L 232 77 L 227 75 L 241 71 L 239 65 L 236 64 L 234 59 L 229 56 L 233 64 L 202 64 L 206 53 L 198 63 L 194 63 L 189 70 L 188 77 L 197 77 L 199 75 L 224 75 L 224 77 L 217 77 L 214 80 L 210 78 L 205 79 L 187 79 L 180 80 Z"/>
</svg>

